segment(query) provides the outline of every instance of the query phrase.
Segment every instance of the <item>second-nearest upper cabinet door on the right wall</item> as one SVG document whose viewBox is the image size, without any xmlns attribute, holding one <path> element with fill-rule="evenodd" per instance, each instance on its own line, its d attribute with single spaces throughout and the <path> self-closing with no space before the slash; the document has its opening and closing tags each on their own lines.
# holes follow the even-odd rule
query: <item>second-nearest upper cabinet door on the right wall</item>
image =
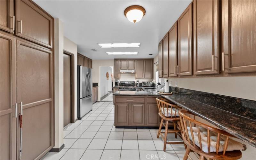
<svg viewBox="0 0 256 160">
<path fill-rule="evenodd" d="M 193 2 L 195 75 L 219 73 L 219 4 L 215 0 Z"/>
</svg>

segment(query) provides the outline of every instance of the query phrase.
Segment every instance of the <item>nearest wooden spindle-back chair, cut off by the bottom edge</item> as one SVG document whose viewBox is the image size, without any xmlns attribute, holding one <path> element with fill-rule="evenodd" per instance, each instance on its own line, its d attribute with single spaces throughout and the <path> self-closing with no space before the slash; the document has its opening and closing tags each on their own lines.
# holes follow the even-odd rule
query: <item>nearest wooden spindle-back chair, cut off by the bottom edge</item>
<svg viewBox="0 0 256 160">
<path fill-rule="evenodd" d="M 200 160 L 203 160 L 204 157 L 209 158 L 210 160 L 233 160 L 240 159 L 242 157 L 240 149 L 243 150 L 246 149 L 246 147 L 245 145 L 230 139 L 230 137 L 233 137 L 231 134 L 201 123 L 195 120 L 195 118 L 191 118 L 192 116 L 195 117 L 195 115 L 189 111 L 180 110 L 179 116 L 182 129 L 182 139 L 187 145 L 184 160 L 188 159 L 190 150 L 199 154 Z M 229 141 L 232 141 L 230 145 L 236 143 L 236 147 L 230 146 L 230 148 L 239 148 L 239 150 L 228 151 Z"/>
</svg>

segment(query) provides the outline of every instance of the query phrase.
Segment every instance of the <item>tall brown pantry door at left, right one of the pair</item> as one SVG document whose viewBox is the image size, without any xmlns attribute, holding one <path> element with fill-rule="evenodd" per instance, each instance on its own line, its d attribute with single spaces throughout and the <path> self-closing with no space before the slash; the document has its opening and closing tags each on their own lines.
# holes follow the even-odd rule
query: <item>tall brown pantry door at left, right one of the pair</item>
<svg viewBox="0 0 256 160">
<path fill-rule="evenodd" d="M 23 39 L 16 44 L 17 101 L 23 102 L 21 159 L 40 159 L 54 146 L 53 54 Z M 17 125 L 17 154 L 19 130 Z"/>
</svg>

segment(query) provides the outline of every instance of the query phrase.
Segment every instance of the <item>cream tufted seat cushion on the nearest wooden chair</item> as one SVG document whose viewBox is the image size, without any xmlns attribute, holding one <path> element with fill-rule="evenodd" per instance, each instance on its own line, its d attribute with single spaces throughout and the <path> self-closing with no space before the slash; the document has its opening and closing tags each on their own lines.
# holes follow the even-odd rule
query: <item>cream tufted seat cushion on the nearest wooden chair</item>
<svg viewBox="0 0 256 160">
<path fill-rule="evenodd" d="M 189 139 L 192 140 L 192 135 L 191 135 L 190 127 L 187 127 L 187 128 L 188 128 Z M 199 138 L 198 138 L 198 134 L 199 134 L 198 133 L 198 129 L 197 129 L 197 127 L 191 127 L 191 128 L 193 130 L 195 144 L 196 144 L 196 146 L 200 147 Z M 203 127 L 200 127 L 199 128 L 199 132 L 200 132 L 201 139 L 202 139 L 202 151 L 208 153 L 207 129 L 205 129 Z M 226 136 L 220 135 L 220 148 L 219 148 L 219 152 L 222 152 L 224 150 L 225 140 L 226 140 Z M 217 133 L 214 133 L 214 132 L 210 131 L 210 141 L 211 141 L 210 152 L 216 152 Z M 244 149 L 244 146 L 243 146 L 242 143 L 237 142 L 235 140 L 232 140 L 230 138 L 228 139 L 227 151 L 241 150 L 241 149 Z"/>
</svg>

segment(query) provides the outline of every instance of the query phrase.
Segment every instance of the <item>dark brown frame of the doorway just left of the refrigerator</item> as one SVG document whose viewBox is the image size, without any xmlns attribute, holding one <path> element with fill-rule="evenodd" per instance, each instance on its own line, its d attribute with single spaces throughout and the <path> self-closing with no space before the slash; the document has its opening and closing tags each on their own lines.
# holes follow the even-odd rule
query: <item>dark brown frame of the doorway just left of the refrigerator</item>
<svg viewBox="0 0 256 160">
<path fill-rule="evenodd" d="M 74 53 L 63 50 L 63 54 L 68 54 L 71 57 L 71 123 L 75 123 L 75 67 L 74 67 Z"/>
</svg>

